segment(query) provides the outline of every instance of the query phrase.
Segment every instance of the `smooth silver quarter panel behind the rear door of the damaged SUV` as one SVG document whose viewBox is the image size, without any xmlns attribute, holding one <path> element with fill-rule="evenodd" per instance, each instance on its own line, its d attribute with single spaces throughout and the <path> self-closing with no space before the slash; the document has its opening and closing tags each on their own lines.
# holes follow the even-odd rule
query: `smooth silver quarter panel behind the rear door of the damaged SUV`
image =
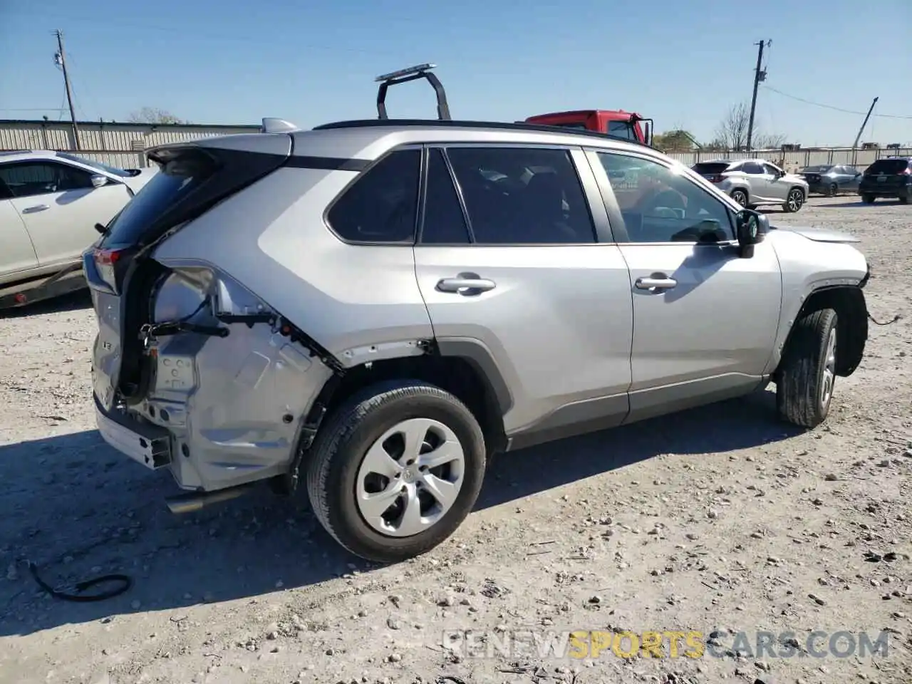
<svg viewBox="0 0 912 684">
<path fill-rule="evenodd" d="M 433 330 L 413 248 L 345 244 L 324 223 L 355 176 L 279 169 L 174 234 L 156 258 L 215 264 L 344 366 L 423 353 L 415 343 Z"/>
</svg>

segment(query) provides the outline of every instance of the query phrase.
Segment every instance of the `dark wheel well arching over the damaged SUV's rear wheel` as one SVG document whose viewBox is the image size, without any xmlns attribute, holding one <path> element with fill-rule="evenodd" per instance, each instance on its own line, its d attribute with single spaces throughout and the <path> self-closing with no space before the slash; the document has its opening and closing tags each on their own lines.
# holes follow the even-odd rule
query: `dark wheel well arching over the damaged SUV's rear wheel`
<svg viewBox="0 0 912 684">
<path fill-rule="evenodd" d="M 327 415 L 358 389 L 383 380 L 406 378 L 430 382 L 460 399 L 478 420 L 489 453 L 506 448 L 503 414 L 491 381 L 470 358 L 427 354 L 389 358 L 374 361 L 369 366 L 350 368 L 342 378 L 335 382 L 330 380 L 332 386 L 327 383 L 326 391 L 321 395 L 328 396 L 317 399 L 322 404 L 318 410 Z"/>
</svg>

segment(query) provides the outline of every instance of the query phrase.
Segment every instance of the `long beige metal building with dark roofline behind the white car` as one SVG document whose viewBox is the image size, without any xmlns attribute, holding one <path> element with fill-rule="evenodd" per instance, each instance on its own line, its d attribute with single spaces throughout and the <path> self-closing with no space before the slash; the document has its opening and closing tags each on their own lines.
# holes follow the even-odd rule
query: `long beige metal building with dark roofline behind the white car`
<svg viewBox="0 0 912 684">
<path fill-rule="evenodd" d="M 166 142 L 255 133 L 258 125 L 120 123 L 77 121 L 79 144 L 69 121 L 0 119 L 0 150 L 65 150 L 121 169 L 149 165 L 142 150 Z"/>
</svg>

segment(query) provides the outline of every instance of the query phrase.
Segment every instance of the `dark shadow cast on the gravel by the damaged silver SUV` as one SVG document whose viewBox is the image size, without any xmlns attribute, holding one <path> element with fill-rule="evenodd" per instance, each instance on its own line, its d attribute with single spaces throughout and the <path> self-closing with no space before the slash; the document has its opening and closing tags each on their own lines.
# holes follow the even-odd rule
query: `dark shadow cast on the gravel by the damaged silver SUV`
<svg viewBox="0 0 912 684">
<path fill-rule="evenodd" d="M 798 430 L 775 420 L 769 395 L 503 454 L 491 463 L 476 512 L 660 453 L 787 439 Z M 161 501 L 175 492 L 170 477 L 127 460 L 94 430 L 0 446 L 0 637 L 260 596 L 377 567 L 319 527 L 303 492 L 277 498 L 264 488 L 181 516 Z M 109 573 L 130 575 L 133 586 L 109 600 L 70 603 L 40 590 L 28 560 L 51 586 Z"/>
</svg>

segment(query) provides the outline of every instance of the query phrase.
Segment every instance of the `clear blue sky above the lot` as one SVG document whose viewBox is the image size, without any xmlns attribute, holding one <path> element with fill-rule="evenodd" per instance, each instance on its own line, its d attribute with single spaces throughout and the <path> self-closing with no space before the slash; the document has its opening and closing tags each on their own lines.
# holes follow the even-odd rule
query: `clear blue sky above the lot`
<svg viewBox="0 0 912 684">
<path fill-rule="evenodd" d="M 0 118 L 68 118 L 55 28 L 78 119 L 143 106 L 198 123 L 373 118 L 373 78 L 430 61 L 454 118 L 627 109 L 708 140 L 750 99 L 752 44 L 769 38 L 762 130 L 850 144 L 852 112 L 879 96 L 863 140 L 912 142 L 912 0 L 0 0 Z M 388 107 L 435 116 L 423 81 Z"/>
</svg>

